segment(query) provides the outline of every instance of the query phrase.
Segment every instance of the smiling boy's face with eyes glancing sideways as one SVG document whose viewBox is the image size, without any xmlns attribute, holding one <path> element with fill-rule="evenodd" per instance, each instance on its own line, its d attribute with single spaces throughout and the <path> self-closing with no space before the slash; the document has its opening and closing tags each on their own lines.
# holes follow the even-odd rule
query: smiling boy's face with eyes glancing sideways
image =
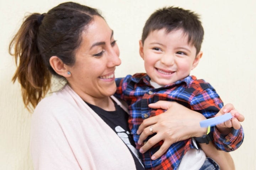
<svg viewBox="0 0 256 170">
<path fill-rule="evenodd" d="M 165 29 L 155 30 L 149 33 L 144 45 L 140 41 L 146 73 L 151 81 L 163 86 L 187 77 L 202 54 L 200 51 L 196 56 L 196 47 L 188 44 L 182 29 L 167 34 Z"/>
</svg>

